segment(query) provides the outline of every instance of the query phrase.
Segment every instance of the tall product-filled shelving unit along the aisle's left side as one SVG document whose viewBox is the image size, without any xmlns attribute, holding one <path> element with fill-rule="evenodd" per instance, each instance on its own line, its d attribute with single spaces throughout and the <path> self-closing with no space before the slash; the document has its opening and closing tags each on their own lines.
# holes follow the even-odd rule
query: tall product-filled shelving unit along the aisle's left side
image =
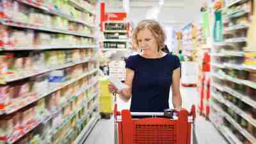
<svg viewBox="0 0 256 144">
<path fill-rule="evenodd" d="M 1 3 L 24 11 L 0 16 L 0 143 L 83 143 L 100 118 L 94 6 Z"/>
</svg>

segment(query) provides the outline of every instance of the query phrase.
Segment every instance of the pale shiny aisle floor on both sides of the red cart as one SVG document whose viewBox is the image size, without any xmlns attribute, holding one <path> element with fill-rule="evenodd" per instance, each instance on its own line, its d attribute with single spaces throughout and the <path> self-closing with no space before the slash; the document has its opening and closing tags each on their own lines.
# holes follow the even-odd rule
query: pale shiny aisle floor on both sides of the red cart
<svg viewBox="0 0 256 144">
<path fill-rule="evenodd" d="M 182 88 L 182 98 L 184 108 L 190 109 L 193 104 L 198 101 L 198 92 L 196 88 Z M 127 108 L 129 104 L 122 103 L 124 108 Z M 227 144 L 227 141 L 221 136 L 214 125 L 208 122 L 202 116 L 196 118 L 196 136 L 198 138 L 198 144 Z M 88 136 L 84 144 L 113 144 L 114 143 L 114 121 L 100 120 L 94 127 L 91 134 Z"/>
</svg>

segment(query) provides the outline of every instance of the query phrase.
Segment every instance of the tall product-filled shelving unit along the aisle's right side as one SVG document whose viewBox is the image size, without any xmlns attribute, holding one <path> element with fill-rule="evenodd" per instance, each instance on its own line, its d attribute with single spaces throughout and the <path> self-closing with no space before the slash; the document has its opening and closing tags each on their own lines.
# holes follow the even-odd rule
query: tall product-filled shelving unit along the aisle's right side
<svg viewBox="0 0 256 144">
<path fill-rule="evenodd" d="M 230 143 L 256 143 L 256 100 L 253 98 L 256 69 L 247 58 L 247 38 L 244 37 L 252 13 L 248 6 L 253 6 L 251 0 L 227 1 L 222 13 L 227 19 L 223 22 L 223 42 L 214 43 L 211 54 L 213 110 L 210 120 Z M 248 21 L 240 23 L 241 19 Z"/>
</svg>

